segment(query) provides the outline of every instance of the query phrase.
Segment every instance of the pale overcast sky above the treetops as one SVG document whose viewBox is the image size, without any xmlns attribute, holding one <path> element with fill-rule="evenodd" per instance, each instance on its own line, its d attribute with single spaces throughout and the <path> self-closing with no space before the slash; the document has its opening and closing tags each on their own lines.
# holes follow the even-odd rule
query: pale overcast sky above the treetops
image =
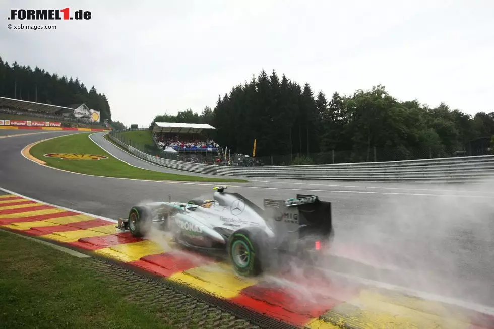
<svg viewBox="0 0 494 329">
<path fill-rule="evenodd" d="M 11 9 L 66 7 L 92 18 L 7 28 L 21 23 Z M 4 0 L 0 11 L 4 61 L 79 77 L 126 125 L 213 108 L 262 69 L 328 98 L 383 84 L 400 100 L 494 111 L 494 1 Z"/>
</svg>

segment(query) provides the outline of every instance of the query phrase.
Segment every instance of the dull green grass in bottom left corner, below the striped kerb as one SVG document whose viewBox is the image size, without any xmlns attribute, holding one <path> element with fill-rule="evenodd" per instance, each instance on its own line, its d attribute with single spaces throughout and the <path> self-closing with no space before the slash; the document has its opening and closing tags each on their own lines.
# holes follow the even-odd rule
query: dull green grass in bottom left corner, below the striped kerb
<svg viewBox="0 0 494 329">
<path fill-rule="evenodd" d="M 0 231 L 0 327 L 172 328 L 77 258 Z"/>
</svg>

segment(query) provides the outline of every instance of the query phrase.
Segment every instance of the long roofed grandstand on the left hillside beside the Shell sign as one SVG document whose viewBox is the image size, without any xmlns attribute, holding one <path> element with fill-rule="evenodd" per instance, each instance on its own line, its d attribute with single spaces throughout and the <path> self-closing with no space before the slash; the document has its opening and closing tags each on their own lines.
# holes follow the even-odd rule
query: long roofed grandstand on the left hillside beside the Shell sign
<svg viewBox="0 0 494 329">
<path fill-rule="evenodd" d="M 82 114 L 81 111 L 87 113 Z M 108 128 L 100 123 L 99 111 L 89 109 L 85 104 L 73 107 L 42 104 L 27 100 L 0 97 L 0 120 L 52 120 L 62 123 L 65 127 L 91 127 L 97 125 Z M 97 120 L 95 120 L 97 118 Z"/>
</svg>

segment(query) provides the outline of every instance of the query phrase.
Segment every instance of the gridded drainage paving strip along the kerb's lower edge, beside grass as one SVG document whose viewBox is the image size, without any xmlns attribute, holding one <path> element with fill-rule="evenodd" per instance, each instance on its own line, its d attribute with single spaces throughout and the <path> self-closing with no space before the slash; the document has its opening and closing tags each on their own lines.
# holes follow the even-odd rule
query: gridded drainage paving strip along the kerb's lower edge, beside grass
<svg viewBox="0 0 494 329">
<path fill-rule="evenodd" d="M 197 319 L 200 321 L 197 324 L 200 328 L 299 328 L 242 306 L 235 305 L 209 293 L 198 291 L 183 284 L 171 282 L 162 277 L 150 275 L 149 272 L 136 269 L 127 264 L 100 257 L 88 258 L 87 261 L 88 267 L 95 271 L 103 272 L 106 277 L 110 277 L 111 279 L 116 280 L 116 282 L 121 282 L 121 285 L 119 284 L 118 286 L 121 287 L 120 289 L 122 292 L 127 292 L 128 294 L 130 290 L 130 293 L 135 294 L 135 296 L 129 297 L 130 300 L 137 301 L 138 303 L 144 302 L 152 303 L 154 305 L 162 304 L 164 307 L 170 303 L 181 304 L 175 305 L 177 308 L 180 306 L 186 307 L 189 310 L 189 313 L 185 318 L 181 319 L 182 322 L 185 322 L 181 324 L 187 325 L 187 327 L 189 327 L 189 321 L 195 320 L 195 318 L 197 319 L 197 315 L 193 318 L 192 313 L 194 311 L 201 311 L 201 315 Z M 208 305 L 198 305 L 201 303 Z M 212 310 L 209 305 L 223 311 L 223 314 L 220 314 L 222 312 L 216 312 L 217 316 L 214 318 L 214 323 L 208 323 L 211 322 L 211 320 L 206 320 L 208 313 L 211 314 L 211 312 L 214 312 L 214 309 Z M 228 317 L 229 314 L 233 314 L 237 319 L 231 316 Z M 180 322 L 180 320 L 178 322 Z"/>
</svg>

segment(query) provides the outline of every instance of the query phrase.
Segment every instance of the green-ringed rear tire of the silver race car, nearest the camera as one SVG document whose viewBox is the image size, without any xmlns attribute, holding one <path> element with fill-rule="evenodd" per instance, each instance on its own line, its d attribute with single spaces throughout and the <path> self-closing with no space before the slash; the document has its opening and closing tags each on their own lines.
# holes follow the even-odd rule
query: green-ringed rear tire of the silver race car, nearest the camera
<svg viewBox="0 0 494 329">
<path fill-rule="evenodd" d="M 260 275 L 267 262 L 267 234 L 259 228 L 242 228 L 228 239 L 228 257 L 233 269 L 244 277 Z"/>
</svg>

